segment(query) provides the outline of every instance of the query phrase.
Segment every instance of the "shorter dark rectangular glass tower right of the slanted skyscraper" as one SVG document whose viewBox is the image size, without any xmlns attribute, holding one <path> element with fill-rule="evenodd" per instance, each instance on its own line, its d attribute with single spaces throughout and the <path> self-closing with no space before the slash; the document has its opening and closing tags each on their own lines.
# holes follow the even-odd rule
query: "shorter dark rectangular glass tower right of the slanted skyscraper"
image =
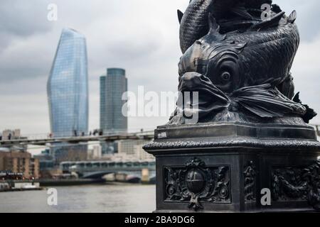
<svg viewBox="0 0 320 227">
<path fill-rule="evenodd" d="M 122 94 L 127 92 L 127 77 L 123 69 L 107 69 L 100 77 L 100 129 L 104 134 L 127 132 L 127 116 L 122 113 Z M 102 143 L 102 153 L 116 153 L 117 145 Z"/>
</svg>

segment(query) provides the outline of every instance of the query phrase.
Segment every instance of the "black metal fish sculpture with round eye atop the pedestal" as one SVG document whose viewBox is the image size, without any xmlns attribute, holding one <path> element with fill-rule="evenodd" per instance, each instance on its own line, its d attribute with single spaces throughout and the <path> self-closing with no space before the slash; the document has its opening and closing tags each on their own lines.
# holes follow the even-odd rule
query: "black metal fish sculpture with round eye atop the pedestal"
<svg viewBox="0 0 320 227">
<path fill-rule="evenodd" d="M 272 1 L 191 0 L 185 13 L 178 11 L 178 89 L 199 97 L 188 107 L 177 106 L 169 124 L 183 123 L 194 109 L 202 122 L 290 116 L 308 123 L 316 116 L 299 94 L 294 97 L 297 13 L 286 16 L 277 5 L 266 11 L 265 4 Z"/>
</svg>

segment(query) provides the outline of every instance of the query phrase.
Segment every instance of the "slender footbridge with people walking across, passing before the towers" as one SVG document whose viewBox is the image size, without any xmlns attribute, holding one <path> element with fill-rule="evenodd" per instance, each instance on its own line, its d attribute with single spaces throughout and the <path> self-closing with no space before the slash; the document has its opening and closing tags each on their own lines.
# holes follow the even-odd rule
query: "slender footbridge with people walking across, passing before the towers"
<svg viewBox="0 0 320 227">
<path fill-rule="evenodd" d="M 107 135 L 85 135 L 61 138 L 18 138 L 12 140 L 0 140 L 0 147 L 13 145 L 46 145 L 48 143 L 87 143 L 90 141 L 113 142 L 116 140 L 152 140 L 154 131 L 139 133 L 113 133 Z"/>
</svg>

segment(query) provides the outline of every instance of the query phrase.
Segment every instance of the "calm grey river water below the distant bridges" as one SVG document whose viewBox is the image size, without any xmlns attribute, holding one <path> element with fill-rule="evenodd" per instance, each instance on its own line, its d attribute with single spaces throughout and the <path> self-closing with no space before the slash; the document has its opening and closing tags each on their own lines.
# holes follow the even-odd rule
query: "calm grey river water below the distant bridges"
<svg viewBox="0 0 320 227">
<path fill-rule="evenodd" d="M 48 205 L 47 190 L 0 192 L 0 212 L 145 212 L 156 209 L 155 185 L 98 184 L 53 187 L 58 205 Z"/>
</svg>

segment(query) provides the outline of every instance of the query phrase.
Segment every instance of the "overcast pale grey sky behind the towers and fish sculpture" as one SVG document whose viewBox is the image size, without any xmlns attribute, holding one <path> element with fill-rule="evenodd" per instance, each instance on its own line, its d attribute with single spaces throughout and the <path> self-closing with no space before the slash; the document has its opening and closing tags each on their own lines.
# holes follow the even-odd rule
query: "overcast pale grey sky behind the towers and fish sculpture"
<svg viewBox="0 0 320 227">
<path fill-rule="evenodd" d="M 58 21 L 47 20 L 50 3 L 58 6 Z M 302 101 L 320 113 L 320 1 L 274 3 L 287 14 L 298 12 L 302 43 L 292 74 Z M 176 9 L 187 5 L 188 0 L 1 0 L 0 131 L 50 131 L 46 82 L 63 28 L 87 38 L 90 130 L 99 127 L 99 77 L 107 67 L 126 69 L 133 92 L 140 85 L 176 92 L 181 56 Z M 129 118 L 129 128 L 155 128 L 168 117 Z M 320 123 L 320 116 L 313 123 Z"/>
</svg>

